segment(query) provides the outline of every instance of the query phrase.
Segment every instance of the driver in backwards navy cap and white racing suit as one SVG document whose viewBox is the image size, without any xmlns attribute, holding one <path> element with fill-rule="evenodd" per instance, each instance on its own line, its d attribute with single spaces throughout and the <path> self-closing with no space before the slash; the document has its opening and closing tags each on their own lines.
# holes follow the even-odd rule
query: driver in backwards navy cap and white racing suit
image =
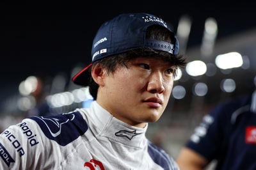
<svg viewBox="0 0 256 170">
<path fill-rule="evenodd" d="M 154 15 L 105 22 L 93 40 L 92 64 L 72 79 L 90 84 L 91 107 L 8 128 L 0 138 L 0 167 L 179 169 L 145 137 L 148 122 L 168 104 L 177 67 L 185 65 L 178 50 L 173 30 Z"/>
</svg>

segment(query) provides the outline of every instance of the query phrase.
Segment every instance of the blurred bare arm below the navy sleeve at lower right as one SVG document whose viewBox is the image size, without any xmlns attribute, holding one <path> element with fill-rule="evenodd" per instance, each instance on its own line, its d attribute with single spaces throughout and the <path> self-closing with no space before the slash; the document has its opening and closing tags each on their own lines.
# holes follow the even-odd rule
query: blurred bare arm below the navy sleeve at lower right
<svg viewBox="0 0 256 170">
<path fill-rule="evenodd" d="M 200 170 L 207 166 L 208 161 L 195 151 L 183 148 L 176 160 L 180 170 Z"/>
</svg>

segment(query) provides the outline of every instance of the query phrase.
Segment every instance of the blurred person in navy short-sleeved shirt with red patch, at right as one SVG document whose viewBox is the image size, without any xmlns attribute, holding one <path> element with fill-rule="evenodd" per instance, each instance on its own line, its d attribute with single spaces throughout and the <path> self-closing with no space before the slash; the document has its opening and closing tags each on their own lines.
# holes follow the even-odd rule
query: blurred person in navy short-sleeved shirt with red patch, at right
<svg viewBox="0 0 256 170">
<path fill-rule="evenodd" d="M 177 163 L 181 170 L 204 169 L 217 160 L 216 169 L 256 169 L 256 91 L 225 102 L 207 114 L 195 128 Z"/>
</svg>

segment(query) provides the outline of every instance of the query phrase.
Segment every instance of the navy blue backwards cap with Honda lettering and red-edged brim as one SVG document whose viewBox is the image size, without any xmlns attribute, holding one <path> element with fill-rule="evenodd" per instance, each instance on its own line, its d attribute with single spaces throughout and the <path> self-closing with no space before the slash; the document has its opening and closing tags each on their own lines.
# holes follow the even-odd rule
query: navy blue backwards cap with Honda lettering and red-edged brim
<svg viewBox="0 0 256 170">
<path fill-rule="evenodd" d="M 166 27 L 173 34 L 175 44 L 158 40 L 147 40 L 147 28 L 152 25 Z M 114 54 L 120 54 L 141 47 L 163 50 L 174 55 L 177 55 L 179 52 L 177 36 L 175 36 L 173 29 L 164 20 L 148 13 L 125 13 L 104 22 L 97 31 L 92 44 L 92 63 Z M 72 81 L 76 84 L 87 86 L 88 72 L 86 70 L 91 65 L 86 66 L 86 68 L 77 73 L 72 78 Z"/>
</svg>

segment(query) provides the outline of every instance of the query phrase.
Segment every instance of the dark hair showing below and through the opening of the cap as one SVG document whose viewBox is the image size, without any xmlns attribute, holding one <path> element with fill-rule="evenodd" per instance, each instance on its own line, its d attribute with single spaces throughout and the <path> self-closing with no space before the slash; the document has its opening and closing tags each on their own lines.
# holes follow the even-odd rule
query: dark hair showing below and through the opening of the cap
<svg viewBox="0 0 256 170">
<path fill-rule="evenodd" d="M 163 26 L 159 25 L 152 25 L 149 26 L 147 29 L 147 36 L 146 38 L 149 40 L 159 40 L 164 42 L 169 42 L 175 44 L 174 35 L 170 34 L 170 31 Z M 108 56 L 107 58 L 100 59 L 99 61 L 95 61 L 91 66 L 91 69 L 96 66 L 100 65 L 103 68 L 106 68 L 108 73 L 114 73 L 118 66 L 127 67 L 127 63 L 131 61 L 131 59 L 138 58 L 138 57 L 147 57 L 147 58 L 159 58 L 163 59 L 166 62 L 170 62 L 172 65 L 177 67 L 183 67 L 186 65 L 186 61 L 183 55 L 173 55 L 168 52 L 164 52 L 161 50 L 153 50 L 149 48 L 140 48 L 129 50 L 127 52 L 116 54 L 113 56 Z M 176 75 L 177 69 L 175 69 Z M 92 97 L 96 100 L 97 99 L 97 91 L 99 85 L 93 81 L 92 76 L 90 77 L 89 83 L 89 90 Z"/>
</svg>

